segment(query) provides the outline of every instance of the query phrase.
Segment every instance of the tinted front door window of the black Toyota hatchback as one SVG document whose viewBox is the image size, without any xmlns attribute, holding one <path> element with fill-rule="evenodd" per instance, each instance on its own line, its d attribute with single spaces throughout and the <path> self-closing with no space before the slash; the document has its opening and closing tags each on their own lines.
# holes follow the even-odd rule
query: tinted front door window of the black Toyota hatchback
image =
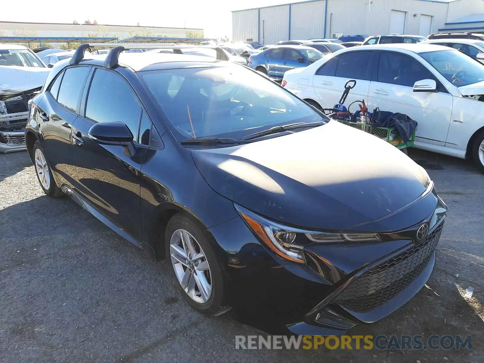
<svg viewBox="0 0 484 363">
<path fill-rule="evenodd" d="M 121 75 L 96 69 L 86 103 L 87 118 L 97 122 L 122 121 L 136 140 L 140 111 L 135 92 Z"/>
</svg>

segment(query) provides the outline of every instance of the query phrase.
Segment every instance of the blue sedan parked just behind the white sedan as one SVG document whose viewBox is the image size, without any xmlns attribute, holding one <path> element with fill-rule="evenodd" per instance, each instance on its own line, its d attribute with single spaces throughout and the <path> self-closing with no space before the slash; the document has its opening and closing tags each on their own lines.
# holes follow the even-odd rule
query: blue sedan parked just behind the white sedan
<svg viewBox="0 0 484 363">
<path fill-rule="evenodd" d="M 320 51 L 309 46 L 280 45 L 251 55 L 247 65 L 271 78 L 282 79 L 286 71 L 308 66 L 322 56 Z"/>
</svg>

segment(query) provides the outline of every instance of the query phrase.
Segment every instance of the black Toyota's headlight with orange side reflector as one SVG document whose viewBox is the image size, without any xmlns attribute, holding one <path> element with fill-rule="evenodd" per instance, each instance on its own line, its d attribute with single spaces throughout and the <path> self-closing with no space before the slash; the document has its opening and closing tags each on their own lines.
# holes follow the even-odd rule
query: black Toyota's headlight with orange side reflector
<svg viewBox="0 0 484 363">
<path fill-rule="evenodd" d="M 293 262 L 306 263 L 303 249 L 307 244 L 381 241 L 378 233 L 329 233 L 288 227 L 268 220 L 237 204 L 234 206 L 247 226 L 256 233 L 262 242 L 279 257 Z"/>
</svg>

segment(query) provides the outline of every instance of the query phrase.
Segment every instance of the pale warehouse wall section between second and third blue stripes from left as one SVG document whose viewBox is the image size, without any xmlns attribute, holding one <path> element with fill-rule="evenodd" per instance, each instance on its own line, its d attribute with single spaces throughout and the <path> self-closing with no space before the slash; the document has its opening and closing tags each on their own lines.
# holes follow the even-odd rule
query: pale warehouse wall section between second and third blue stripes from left
<svg viewBox="0 0 484 363">
<path fill-rule="evenodd" d="M 289 39 L 322 38 L 324 36 L 325 0 L 291 5 L 291 37 Z"/>
</svg>

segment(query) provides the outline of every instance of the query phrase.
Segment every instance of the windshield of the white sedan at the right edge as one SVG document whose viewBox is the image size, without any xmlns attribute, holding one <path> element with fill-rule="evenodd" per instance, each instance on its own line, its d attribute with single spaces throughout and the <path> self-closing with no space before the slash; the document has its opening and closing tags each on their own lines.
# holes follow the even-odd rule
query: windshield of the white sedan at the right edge
<svg viewBox="0 0 484 363">
<path fill-rule="evenodd" d="M 484 64 L 458 50 L 438 50 L 419 55 L 454 86 L 484 81 Z"/>
</svg>

